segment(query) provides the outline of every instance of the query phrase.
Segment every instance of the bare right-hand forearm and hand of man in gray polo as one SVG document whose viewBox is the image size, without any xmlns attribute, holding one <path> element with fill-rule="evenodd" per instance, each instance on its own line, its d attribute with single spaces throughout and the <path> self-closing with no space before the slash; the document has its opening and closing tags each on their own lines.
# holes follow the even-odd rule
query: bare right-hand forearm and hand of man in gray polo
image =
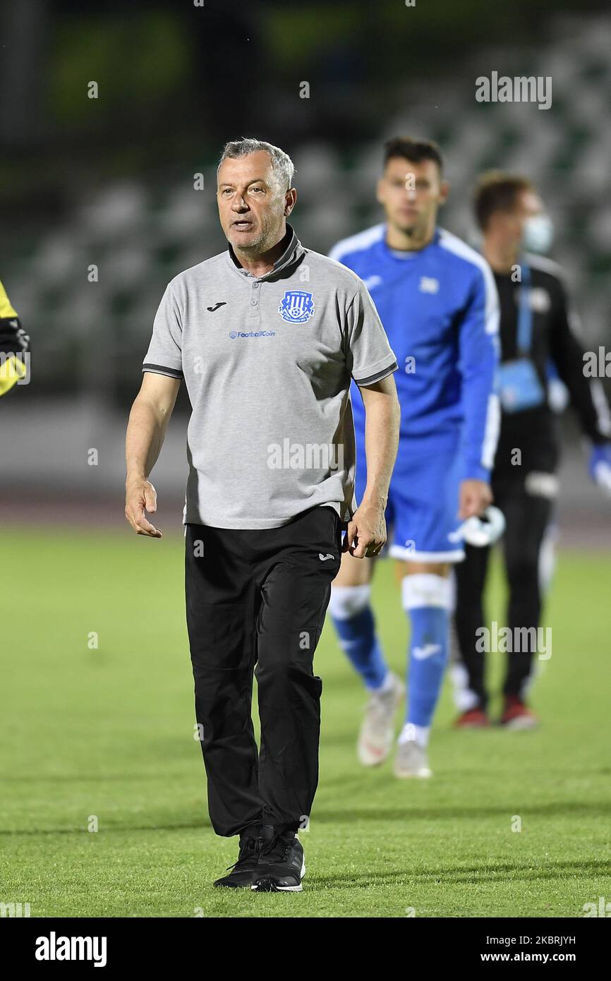
<svg viewBox="0 0 611 981">
<path fill-rule="evenodd" d="M 344 548 L 356 558 L 378 554 L 386 541 L 384 510 L 397 455 L 400 410 L 392 375 L 360 388 L 365 405 L 367 486 L 352 521 Z"/>
</svg>

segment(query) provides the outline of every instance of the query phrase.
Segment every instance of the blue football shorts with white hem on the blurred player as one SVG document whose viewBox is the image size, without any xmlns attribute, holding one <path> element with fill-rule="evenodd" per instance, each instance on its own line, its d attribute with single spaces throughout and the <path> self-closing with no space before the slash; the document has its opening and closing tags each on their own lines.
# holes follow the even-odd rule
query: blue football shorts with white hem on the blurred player
<svg viewBox="0 0 611 981">
<path fill-rule="evenodd" d="M 461 524 L 461 465 L 458 434 L 430 443 L 401 440 L 386 507 L 390 555 L 407 562 L 462 562 L 463 542 L 450 538 Z M 357 436 L 357 504 L 366 482 L 365 447 Z"/>
</svg>

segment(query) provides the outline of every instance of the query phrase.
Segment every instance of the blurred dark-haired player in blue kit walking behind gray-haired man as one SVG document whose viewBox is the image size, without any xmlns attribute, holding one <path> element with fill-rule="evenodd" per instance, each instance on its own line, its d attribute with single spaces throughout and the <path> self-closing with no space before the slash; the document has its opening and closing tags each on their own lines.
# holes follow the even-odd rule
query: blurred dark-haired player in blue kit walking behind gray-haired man
<svg viewBox="0 0 611 981">
<path fill-rule="evenodd" d="M 498 298 L 484 259 L 437 227 L 447 197 L 438 147 L 397 137 L 384 148 L 378 200 L 385 221 L 336 244 L 331 258 L 368 287 L 395 352 L 399 450 L 388 492 L 388 551 L 411 621 L 409 695 L 394 759 L 397 777 L 428 777 L 429 733 L 449 645 L 452 565 L 465 555 L 459 526 L 492 499 L 498 438 L 493 393 Z M 352 387 L 356 495 L 366 483 L 365 412 Z M 382 763 L 404 686 L 388 670 L 371 607 L 375 559 L 346 551 L 331 590 L 339 643 L 370 693 L 358 739 L 365 766 Z"/>
</svg>

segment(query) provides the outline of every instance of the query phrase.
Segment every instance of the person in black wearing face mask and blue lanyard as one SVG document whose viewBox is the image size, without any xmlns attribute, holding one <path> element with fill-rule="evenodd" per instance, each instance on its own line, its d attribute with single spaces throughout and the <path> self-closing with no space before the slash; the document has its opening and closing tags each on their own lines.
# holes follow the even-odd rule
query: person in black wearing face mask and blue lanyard
<svg viewBox="0 0 611 981">
<path fill-rule="evenodd" d="M 507 646 L 500 723 L 508 729 L 532 729 L 537 718 L 526 702 L 536 652 L 530 643 L 536 631 L 531 628 L 538 627 L 540 619 L 540 580 L 545 566 L 549 568 L 545 557 L 549 554 L 548 532 L 558 491 L 559 424 L 548 387 L 550 374 L 568 389 L 591 445 L 590 476 L 608 493 L 611 420 L 600 382 L 584 374 L 584 349 L 574 333 L 576 318 L 561 270 L 540 256 L 551 246 L 553 226 L 535 186 L 523 177 L 484 174 L 474 203 L 484 235 L 483 254 L 494 274 L 500 301 L 497 390 L 501 430 L 492 492 L 507 523 L 506 625 L 512 639 L 529 638 L 529 643 L 512 644 L 511 652 Z M 485 623 L 483 594 L 488 557 L 489 548 L 466 545 L 466 559 L 455 570 L 458 659 L 452 674 L 461 711 L 455 721 L 458 728 L 489 724 L 485 655 L 481 649 L 484 645 L 482 634 L 477 633 Z"/>
</svg>

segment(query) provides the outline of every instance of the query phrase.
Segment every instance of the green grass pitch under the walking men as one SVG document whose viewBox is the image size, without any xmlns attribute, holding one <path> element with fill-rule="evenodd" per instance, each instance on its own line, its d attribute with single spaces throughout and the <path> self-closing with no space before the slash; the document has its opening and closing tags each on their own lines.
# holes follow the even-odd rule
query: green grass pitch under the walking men
<svg viewBox="0 0 611 981">
<path fill-rule="evenodd" d="M 321 780 L 301 836 L 304 891 L 292 895 L 211 885 L 236 840 L 208 823 L 181 539 L 5 530 L 0 561 L 0 902 L 29 903 L 32 917 L 575 917 L 611 901 L 604 555 L 560 554 L 544 621 L 553 653 L 533 692 L 542 727 L 454 732 L 447 681 L 431 781 L 398 781 L 389 762 L 359 767 L 365 695 L 327 624 Z M 492 580 L 488 614 L 502 624 L 498 565 Z M 402 672 L 407 626 L 389 563 L 375 603 Z M 498 687 L 502 655 L 488 656 Z"/>
</svg>

